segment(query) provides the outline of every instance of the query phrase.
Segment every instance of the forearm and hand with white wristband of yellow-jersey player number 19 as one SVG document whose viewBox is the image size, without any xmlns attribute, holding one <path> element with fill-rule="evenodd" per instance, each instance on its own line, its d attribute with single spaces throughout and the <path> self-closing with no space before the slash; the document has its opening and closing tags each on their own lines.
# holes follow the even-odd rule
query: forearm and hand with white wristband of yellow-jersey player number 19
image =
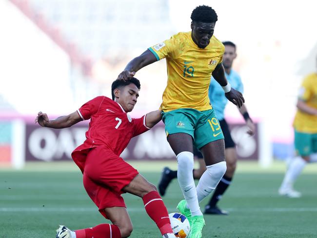
<svg viewBox="0 0 317 238">
<path fill-rule="evenodd" d="M 220 86 L 222 86 L 226 98 L 240 108 L 244 103 L 244 98 L 239 91 L 237 91 L 234 88 L 231 88 L 230 84 L 228 84 L 228 81 L 224 75 L 224 68 L 222 66 L 222 63 L 219 63 L 216 66 L 212 75 L 214 79 L 216 79 L 216 81 L 220 84 Z"/>
</svg>

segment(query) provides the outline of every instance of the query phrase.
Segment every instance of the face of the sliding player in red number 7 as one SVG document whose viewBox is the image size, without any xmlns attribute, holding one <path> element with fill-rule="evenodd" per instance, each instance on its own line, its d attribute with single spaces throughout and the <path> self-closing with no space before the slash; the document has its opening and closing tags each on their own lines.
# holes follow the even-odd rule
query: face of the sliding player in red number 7
<svg viewBox="0 0 317 238">
<path fill-rule="evenodd" d="M 134 83 L 123 86 L 119 90 L 118 102 L 124 111 L 131 112 L 137 103 L 139 97 L 139 89 Z"/>
</svg>

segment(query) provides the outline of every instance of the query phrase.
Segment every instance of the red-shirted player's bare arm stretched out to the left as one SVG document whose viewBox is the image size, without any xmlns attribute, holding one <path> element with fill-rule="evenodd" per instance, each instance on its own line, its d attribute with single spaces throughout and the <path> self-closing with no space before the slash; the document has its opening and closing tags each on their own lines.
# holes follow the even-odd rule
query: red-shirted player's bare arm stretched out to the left
<svg viewBox="0 0 317 238">
<path fill-rule="evenodd" d="M 61 128 L 70 127 L 81 120 L 82 119 L 80 118 L 77 111 L 69 114 L 68 116 L 61 116 L 57 119 L 52 119 L 52 120 L 48 119 L 48 116 L 46 113 L 39 112 L 38 116 L 35 118 L 35 123 L 39 123 L 40 126 L 43 126 L 43 127 L 61 129 Z"/>
</svg>

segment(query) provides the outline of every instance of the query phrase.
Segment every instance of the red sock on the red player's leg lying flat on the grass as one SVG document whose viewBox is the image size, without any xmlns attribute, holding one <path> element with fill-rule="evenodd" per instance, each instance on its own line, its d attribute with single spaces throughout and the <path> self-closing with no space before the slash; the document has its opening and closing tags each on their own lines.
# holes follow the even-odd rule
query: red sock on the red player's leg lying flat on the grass
<svg viewBox="0 0 317 238">
<path fill-rule="evenodd" d="M 111 224 L 100 224 L 75 232 L 76 238 L 121 238 L 119 227 Z"/>
</svg>

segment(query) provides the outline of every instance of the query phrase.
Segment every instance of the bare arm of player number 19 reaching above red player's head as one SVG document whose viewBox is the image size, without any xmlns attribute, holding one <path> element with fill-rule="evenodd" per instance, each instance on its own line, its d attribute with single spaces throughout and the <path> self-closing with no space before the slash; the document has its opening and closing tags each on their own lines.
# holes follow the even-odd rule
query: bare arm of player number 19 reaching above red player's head
<svg viewBox="0 0 317 238">
<path fill-rule="evenodd" d="M 150 50 L 146 50 L 127 64 L 124 71 L 119 74 L 118 79 L 127 80 L 133 77 L 141 68 L 156 61 L 155 55 Z"/>
</svg>

